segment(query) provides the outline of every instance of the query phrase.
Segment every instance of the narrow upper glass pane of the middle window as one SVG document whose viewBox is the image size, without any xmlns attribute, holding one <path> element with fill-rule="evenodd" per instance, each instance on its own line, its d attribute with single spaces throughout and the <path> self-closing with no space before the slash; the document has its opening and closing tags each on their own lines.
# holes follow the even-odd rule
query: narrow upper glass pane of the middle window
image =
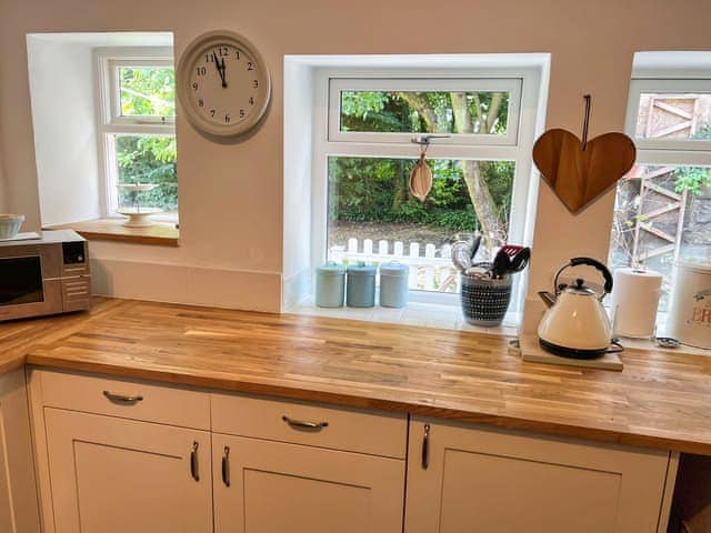
<svg viewBox="0 0 711 533">
<path fill-rule="evenodd" d="M 510 97 L 477 91 L 341 91 L 340 129 L 504 135 Z"/>
</svg>

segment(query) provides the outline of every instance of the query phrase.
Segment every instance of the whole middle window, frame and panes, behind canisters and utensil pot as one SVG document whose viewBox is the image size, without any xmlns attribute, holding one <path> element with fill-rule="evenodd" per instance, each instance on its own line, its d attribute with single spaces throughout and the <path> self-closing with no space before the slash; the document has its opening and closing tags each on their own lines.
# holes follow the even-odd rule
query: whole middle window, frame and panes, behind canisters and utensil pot
<svg viewBox="0 0 711 533">
<path fill-rule="evenodd" d="M 326 112 L 314 139 L 313 262 L 407 263 L 414 300 L 457 303 L 458 237 L 484 235 L 480 260 L 525 240 L 538 72 L 389 74 L 317 78 Z M 428 134 L 439 137 L 427 149 L 433 184 L 420 202 L 409 191 L 420 149 L 412 141 Z"/>
</svg>

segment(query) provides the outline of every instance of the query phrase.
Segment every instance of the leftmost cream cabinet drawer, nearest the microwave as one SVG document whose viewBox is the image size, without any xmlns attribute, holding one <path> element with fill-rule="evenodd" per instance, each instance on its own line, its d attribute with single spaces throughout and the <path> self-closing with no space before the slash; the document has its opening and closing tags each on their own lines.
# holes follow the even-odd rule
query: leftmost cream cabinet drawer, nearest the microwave
<svg viewBox="0 0 711 533">
<path fill-rule="evenodd" d="M 210 395 L 207 392 L 44 370 L 33 370 L 32 379 L 40 381 L 44 406 L 210 429 Z"/>
</svg>

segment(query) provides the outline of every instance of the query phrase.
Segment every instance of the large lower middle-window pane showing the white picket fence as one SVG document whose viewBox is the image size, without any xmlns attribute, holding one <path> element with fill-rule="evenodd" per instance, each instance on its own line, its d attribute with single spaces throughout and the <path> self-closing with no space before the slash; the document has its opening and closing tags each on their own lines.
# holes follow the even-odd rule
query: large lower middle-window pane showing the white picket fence
<svg viewBox="0 0 711 533">
<path fill-rule="evenodd" d="M 410 266 L 410 289 L 459 292 L 449 247 L 461 232 L 505 239 L 514 163 L 428 161 L 433 183 L 421 203 L 409 191 L 415 162 L 329 158 L 328 258 L 346 264 L 399 261 Z M 468 185 L 474 182 L 482 188 L 475 195 L 482 220 Z M 482 252 L 494 243 L 489 240 Z"/>
</svg>

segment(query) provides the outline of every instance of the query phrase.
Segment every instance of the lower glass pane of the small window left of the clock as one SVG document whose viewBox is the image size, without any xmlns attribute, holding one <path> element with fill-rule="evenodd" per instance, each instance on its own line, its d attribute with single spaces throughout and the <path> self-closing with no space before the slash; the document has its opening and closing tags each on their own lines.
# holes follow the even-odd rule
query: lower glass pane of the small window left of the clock
<svg viewBox="0 0 711 533">
<path fill-rule="evenodd" d="M 119 205 L 178 211 L 176 138 L 170 135 L 116 135 L 119 168 Z M 148 191 L 127 191 L 121 184 L 152 183 Z"/>
</svg>

